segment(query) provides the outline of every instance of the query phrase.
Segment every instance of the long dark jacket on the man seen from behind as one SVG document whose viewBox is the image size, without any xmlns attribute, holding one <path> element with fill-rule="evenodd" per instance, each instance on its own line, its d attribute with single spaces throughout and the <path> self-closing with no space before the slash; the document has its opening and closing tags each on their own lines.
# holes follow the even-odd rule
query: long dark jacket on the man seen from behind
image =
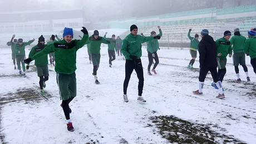
<svg viewBox="0 0 256 144">
<path fill-rule="evenodd" d="M 217 46 L 213 37 L 204 36 L 199 42 L 199 62 L 200 67 L 216 68 L 217 63 Z"/>
</svg>

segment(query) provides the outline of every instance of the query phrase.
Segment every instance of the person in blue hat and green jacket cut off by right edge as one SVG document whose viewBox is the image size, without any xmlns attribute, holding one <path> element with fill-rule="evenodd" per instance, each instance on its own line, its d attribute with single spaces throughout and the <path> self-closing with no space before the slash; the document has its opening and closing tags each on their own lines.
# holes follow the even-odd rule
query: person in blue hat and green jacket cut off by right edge
<svg viewBox="0 0 256 144">
<path fill-rule="evenodd" d="M 253 71 L 256 74 L 256 28 L 248 31 L 248 37 L 244 44 L 244 52 L 250 56 L 250 64 L 252 64 Z"/>
</svg>

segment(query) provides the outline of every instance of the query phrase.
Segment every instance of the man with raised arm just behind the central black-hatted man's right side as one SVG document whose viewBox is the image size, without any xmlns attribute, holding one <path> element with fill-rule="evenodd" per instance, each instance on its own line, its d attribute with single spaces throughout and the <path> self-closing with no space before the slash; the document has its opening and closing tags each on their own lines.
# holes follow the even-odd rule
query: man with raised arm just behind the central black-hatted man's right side
<svg viewBox="0 0 256 144">
<path fill-rule="evenodd" d="M 159 29 L 159 34 L 157 34 L 157 36 L 163 36 L 162 30 L 160 28 L 160 26 L 157 26 L 157 28 Z M 156 32 L 152 31 L 150 33 L 151 37 L 155 37 L 156 36 Z M 159 64 L 159 58 L 157 56 L 157 50 L 159 49 L 159 43 L 158 43 L 158 39 L 153 39 L 152 41 L 148 41 L 147 42 L 147 57 L 149 57 L 149 65 L 147 66 L 147 74 L 152 76 L 151 72 L 150 72 L 150 67 L 152 65 L 153 62 L 153 58 L 155 59 L 155 64 L 154 67 L 152 69 L 152 72 L 155 73 L 155 75 L 157 74 L 155 71 L 156 66 Z"/>
</svg>

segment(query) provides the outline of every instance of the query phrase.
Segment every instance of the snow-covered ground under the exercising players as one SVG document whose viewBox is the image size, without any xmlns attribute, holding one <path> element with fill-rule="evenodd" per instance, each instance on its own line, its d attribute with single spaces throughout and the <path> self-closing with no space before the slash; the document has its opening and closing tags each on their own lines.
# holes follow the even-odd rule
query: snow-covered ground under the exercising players
<svg viewBox="0 0 256 144">
<path fill-rule="evenodd" d="M 71 102 L 75 132 L 68 132 L 54 69 L 50 68 L 50 80 L 46 83 L 48 94 L 42 97 L 38 94 L 35 67 L 31 64 L 27 78 L 19 77 L 18 71 L 13 69 L 11 49 L 2 48 L 0 52 L 2 143 L 224 143 L 227 138 L 237 141 L 231 143 L 256 141 L 256 76 L 248 57 L 252 82 L 235 83 L 232 58 L 228 58 L 228 72 L 223 82 L 226 98 L 219 100 L 215 98 L 218 90 L 210 86 L 210 75 L 205 81 L 204 95 L 193 95 L 192 91 L 198 89 L 199 69 L 186 68 L 190 60 L 188 50 L 161 49 L 158 74 L 148 76 L 147 53 L 143 48 L 143 95 L 147 100 L 143 105 L 136 102 L 135 72 L 127 91 L 130 101 L 122 101 L 125 76 L 122 57 L 117 57 L 110 68 L 107 48 L 101 49 L 98 71 L 101 84 L 95 85 L 87 49 L 82 48 L 77 53 L 78 95 Z M 199 68 L 198 61 L 194 66 Z M 245 73 L 242 67 L 239 68 L 244 81 Z M 206 141 L 199 141 L 194 136 Z M 181 141 L 186 137 L 192 140 Z"/>
</svg>

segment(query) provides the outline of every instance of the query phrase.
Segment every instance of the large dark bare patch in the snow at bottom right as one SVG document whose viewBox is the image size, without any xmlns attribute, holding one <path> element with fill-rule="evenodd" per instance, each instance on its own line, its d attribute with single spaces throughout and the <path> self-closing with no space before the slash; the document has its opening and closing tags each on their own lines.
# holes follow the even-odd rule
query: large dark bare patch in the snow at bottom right
<svg viewBox="0 0 256 144">
<path fill-rule="evenodd" d="M 234 136 L 228 136 L 223 128 L 216 125 L 201 125 L 181 120 L 174 116 L 155 116 L 150 120 L 163 138 L 171 143 L 244 143 Z M 154 127 L 149 124 L 149 127 Z M 217 128 L 223 133 L 212 130 Z"/>
</svg>

